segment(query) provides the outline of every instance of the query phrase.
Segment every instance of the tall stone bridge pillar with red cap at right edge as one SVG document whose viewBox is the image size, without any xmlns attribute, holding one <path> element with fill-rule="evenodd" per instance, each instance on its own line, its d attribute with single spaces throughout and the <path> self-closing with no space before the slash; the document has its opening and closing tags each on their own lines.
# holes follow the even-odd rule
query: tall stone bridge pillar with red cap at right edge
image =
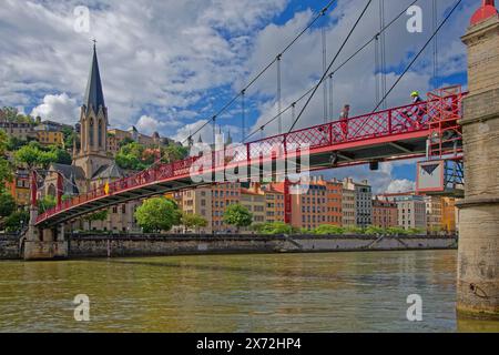
<svg viewBox="0 0 499 355">
<path fill-rule="evenodd" d="M 460 209 L 457 310 L 499 318 L 499 16 L 483 0 L 462 41 L 469 95 L 464 102 L 465 200 Z"/>
</svg>

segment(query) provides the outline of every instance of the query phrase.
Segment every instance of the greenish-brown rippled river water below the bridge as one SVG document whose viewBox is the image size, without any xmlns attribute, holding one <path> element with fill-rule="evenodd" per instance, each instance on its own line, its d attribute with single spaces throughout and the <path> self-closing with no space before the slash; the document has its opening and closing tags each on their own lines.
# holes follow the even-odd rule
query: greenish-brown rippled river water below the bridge
<svg viewBox="0 0 499 355">
<path fill-rule="evenodd" d="M 0 262 L 0 332 L 456 332 L 456 251 Z M 73 300 L 90 300 L 90 322 Z M 407 320 L 421 297 L 422 321 Z"/>
</svg>

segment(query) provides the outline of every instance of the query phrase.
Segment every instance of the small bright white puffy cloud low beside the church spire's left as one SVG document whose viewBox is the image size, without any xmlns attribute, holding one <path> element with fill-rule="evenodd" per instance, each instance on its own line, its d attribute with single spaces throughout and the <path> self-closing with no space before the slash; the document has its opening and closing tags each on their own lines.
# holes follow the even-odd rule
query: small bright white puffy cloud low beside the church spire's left
<svg viewBox="0 0 499 355">
<path fill-rule="evenodd" d="M 55 120 L 67 124 L 78 122 L 79 106 L 75 99 L 67 93 L 59 95 L 45 95 L 43 103 L 31 111 L 31 116 L 40 116 L 43 120 Z"/>
</svg>

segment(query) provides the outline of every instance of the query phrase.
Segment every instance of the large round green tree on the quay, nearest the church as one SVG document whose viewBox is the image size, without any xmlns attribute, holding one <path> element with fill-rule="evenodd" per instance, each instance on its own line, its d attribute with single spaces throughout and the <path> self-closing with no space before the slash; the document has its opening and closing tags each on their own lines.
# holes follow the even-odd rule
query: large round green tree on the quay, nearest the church
<svg viewBox="0 0 499 355">
<path fill-rule="evenodd" d="M 135 219 L 145 233 L 167 232 L 181 224 L 182 213 L 176 203 L 166 197 L 154 197 L 144 201 L 136 209 Z"/>
</svg>

